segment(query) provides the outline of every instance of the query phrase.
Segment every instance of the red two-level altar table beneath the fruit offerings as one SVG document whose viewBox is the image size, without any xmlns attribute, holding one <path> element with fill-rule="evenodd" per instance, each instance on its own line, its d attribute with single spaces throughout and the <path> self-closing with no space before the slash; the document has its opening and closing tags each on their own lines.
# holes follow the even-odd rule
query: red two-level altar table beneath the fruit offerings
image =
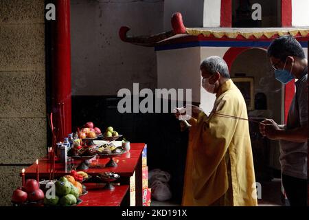
<svg viewBox="0 0 309 220">
<path fill-rule="evenodd" d="M 142 162 L 141 162 L 141 153 L 144 150 L 144 143 L 131 143 L 130 151 L 119 155 L 119 157 L 114 157 L 114 161 L 117 162 L 117 167 L 105 167 L 104 165 L 109 161 L 109 158 L 100 158 L 93 162 L 95 165 L 91 165 L 88 170 L 83 170 L 91 176 L 98 175 L 99 173 L 104 172 L 115 172 L 120 175 L 122 179 L 122 186 L 115 186 L 114 192 L 104 192 L 102 189 L 94 189 L 93 187 L 89 188 L 87 195 L 81 197 L 83 200 L 80 203 L 80 206 L 108 206 L 110 205 L 119 205 L 119 203 L 126 197 L 130 199 L 129 196 L 129 184 L 130 177 L 133 176 L 135 172 L 135 204 L 136 206 L 142 206 Z M 78 166 L 80 161 L 74 160 L 74 166 Z M 47 158 L 40 159 L 38 162 L 38 171 L 40 179 L 49 179 L 49 173 L 51 170 L 52 164 Z M 65 166 L 65 164 L 56 163 L 54 178 L 62 177 L 64 175 L 70 175 L 71 168 Z M 21 175 L 21 173 L 20 173 Z M 25 179 L 35 178 L 36 177 L 36 164 L 25 168 Z M 110 194 L 108 194 L 110 193 Z M 111 194 L 112 193 L 112 194 Z M 114 199 L 117 202 L 108 203 L 107 200 L 110 200 L 111 196 L 114 196 Z M 104 199 L 106 197 L 106 199 Z M 101 198 L 101 199 L 100 199 Z M 117 199 L 118 198 L 118 199 Z M 125 201 L 128 204 L 128 201 Z M 86 205 L 88 204 L 88 205 Z"/>
</svg>

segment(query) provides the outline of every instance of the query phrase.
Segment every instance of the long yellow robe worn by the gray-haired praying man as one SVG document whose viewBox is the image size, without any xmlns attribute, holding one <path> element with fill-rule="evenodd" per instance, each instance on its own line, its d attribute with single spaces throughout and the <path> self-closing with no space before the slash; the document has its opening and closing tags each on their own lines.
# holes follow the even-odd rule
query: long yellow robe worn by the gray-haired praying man
<svg viewBox="0 0 309 220">
<path fill-rule="evenodd" d="M 213 112 L 248 118 L 232 80 L 220 87 Z M 182 205 L 257 206 L 248 122 L 200 113 L 190 123 Z"/>
</svg>

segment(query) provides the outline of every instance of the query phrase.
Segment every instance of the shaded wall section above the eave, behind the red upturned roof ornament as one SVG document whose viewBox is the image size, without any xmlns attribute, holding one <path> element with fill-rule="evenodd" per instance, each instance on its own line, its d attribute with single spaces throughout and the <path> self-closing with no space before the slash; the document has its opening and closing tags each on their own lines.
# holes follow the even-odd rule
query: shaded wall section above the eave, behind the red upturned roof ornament
<svg viewBox="0 0 309 220">
<path fill-rule="evenodd" d="M 216 0 L 218 1 L 218 0 Z M 172 30 L 170 19 L 174 12 L 181 12 L 187 28 L 203 27 L 204 0 L 165 0 L 164 30 Z"/>
</svg>

